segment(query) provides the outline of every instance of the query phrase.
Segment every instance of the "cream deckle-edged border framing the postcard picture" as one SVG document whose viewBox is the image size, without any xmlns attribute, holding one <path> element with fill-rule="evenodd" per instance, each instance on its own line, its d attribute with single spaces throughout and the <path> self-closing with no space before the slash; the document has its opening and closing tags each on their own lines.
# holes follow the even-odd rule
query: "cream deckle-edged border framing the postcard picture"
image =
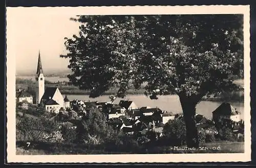
<svg viewBox="0 0 256 168">
<path fill-rule="evenodd" d="M 111 6 L 111 7 L 7 7 L 7 161 L 30 163 L 102 163 L 102 162 L 225 162 L 251 160 L 250 130 L 250 6 Z M 244 120 L 245 152 L 242 154 L 132 154 L 132 155 L 16 155 L 15 153 L 15 45 L 11 17 L 41 12 L 46 15 L 135 15 L 135 14 L 244 14 Z M 29 47 L 29 46 L 28 46 Z M 28 49 L 29 50 L 29 49 Z"/>
</svg>

